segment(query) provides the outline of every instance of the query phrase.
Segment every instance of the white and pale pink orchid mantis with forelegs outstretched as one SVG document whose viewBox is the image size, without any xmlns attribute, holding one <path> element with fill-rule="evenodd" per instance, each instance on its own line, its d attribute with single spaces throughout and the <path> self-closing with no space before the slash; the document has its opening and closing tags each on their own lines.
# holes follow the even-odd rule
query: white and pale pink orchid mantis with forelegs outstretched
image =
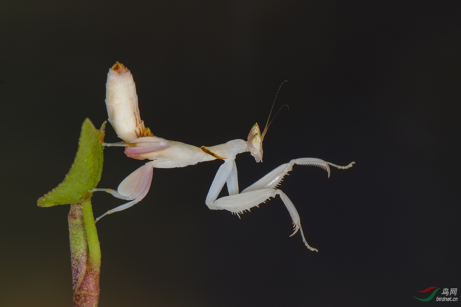
<svg viewBox="0 0 461 307">
<path fill-rule="evenodd" d="M 130 200 L 130 202 L 102 214 L 96 221 L 100 220 L 106 214 L 127 209 L 141 201 L 149 191 L 153 168 L 178 168 L 197 164 L 198 162 L 222 159 L 224 163 L 219 167 L 205 201 L 208 208 L 213 210 L 225 209 L 239 216 L 239 214 L 242 214 L 246 210 L 250 211 L 254 206 L 259 206 L 260 203 L 264 203 L 270 197 L 275 197 L 278 194 L 288 209 L 293 222 L 294 232 L 291 236 L 300 230 L 302 241 L 307 248 L 318 251 L 307 244 L 295 206 L 284 192 L 277 189 L 277 186 L 283 180 L 284 176 L 292 170 L 294 164 L 314 165 L 324 168 L 328 172 L 328 177 L 330 177 L 330 165 L 346 169 L 350 168 L 355 162 L 351 162 L 347 166 L 339 166 L 317 158 L 294 159 L 289 163 L 275 168 L 239 193 L 235 157 L 239 153 L 249 151 L 254 156 L 256 162 L 262 160 L 262 141 L 270 125 L 269 120 L 262 133 L 256 123 L 251 128 L 247 141 L 234 139 L 225 144 L 212 147 L 196 147 L 155 137 L 140 119 L 133 76 L 130 70 L 118 62 L 112 66 L 107 74 L 106 106 L 109 122 L 114 127 L 118 137 L 123 139 L 124 142 L 105 143 L 104 145 L 124 146 L 127 156 L 152 161 L 147 162 L 126 177 L 118 185 L 117 191 L 111 189 L 92 190 L 106 191 L 115 197 Z M 224 184 L 227 185 L 229 196 L 217 199 Z"/>
</svg>

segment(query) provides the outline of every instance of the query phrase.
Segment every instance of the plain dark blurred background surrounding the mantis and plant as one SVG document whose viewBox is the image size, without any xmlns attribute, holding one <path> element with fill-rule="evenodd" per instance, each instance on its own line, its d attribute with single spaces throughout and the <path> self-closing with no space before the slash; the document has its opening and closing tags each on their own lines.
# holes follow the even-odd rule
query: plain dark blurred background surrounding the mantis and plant
<svg viewBox="0 0 461 307">
<path fill-rule="evenodd" d="M 236 158 L 241 190 L 293 158 L 356 164 L 330 179 L 295 166 L 280 186 L 319 253 L 288 237 L 279 197 L 241 220 L 209 210 L 221 161 L 154 169 L 142 202 L 97 224 L 100 307 L 408 306 L 425 304 L 418 290 L 461 288 L 459 1 L 3 0 L 0 12 L 0 306 L 72 304 L 69 205 L 36 200 L 70 168 L 85 117 L 106 120 L 115 61 L 146 126 L 196 146 L 246 139 L 289 80 L 264 162 Z M 99 187 L 143 163 L 107 148 Z M 96 193 L 95 216 L 122 203 Z"/>
</svg>

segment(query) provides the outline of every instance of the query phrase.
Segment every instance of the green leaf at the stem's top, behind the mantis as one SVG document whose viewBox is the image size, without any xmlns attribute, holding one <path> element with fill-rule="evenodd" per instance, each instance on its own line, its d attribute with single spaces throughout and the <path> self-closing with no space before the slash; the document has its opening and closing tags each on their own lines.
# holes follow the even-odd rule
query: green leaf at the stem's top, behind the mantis
<svg viewBox="0 0 461 307">
<path fill-rule="evenodd" d="M 39 207 L 80 203 L 88 196 L 88 191 L 98 185 L 104 161 L 101 142 L 105 127 L 106 122 L 98 130 L 88 118 L 85 119 L 71 170 L 63 182 L 38 199 Z"/>
</svg>

